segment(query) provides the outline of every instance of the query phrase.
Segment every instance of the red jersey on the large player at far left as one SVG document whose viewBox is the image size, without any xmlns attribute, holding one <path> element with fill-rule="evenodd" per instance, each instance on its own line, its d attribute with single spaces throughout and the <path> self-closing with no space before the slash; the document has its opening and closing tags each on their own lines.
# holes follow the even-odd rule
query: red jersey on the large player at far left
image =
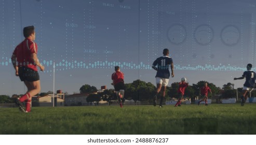
<svg viewBox="0 0 256 145">
<path fill-rule="evenodd" d="M 37 71 L 36 64 L 31 58 L 32 53 L 37 53 L 37 44 L 31 39 L 25 38 L 12 54 L 16 55 L 18 66 L 25 66 Z"/>
</svg>

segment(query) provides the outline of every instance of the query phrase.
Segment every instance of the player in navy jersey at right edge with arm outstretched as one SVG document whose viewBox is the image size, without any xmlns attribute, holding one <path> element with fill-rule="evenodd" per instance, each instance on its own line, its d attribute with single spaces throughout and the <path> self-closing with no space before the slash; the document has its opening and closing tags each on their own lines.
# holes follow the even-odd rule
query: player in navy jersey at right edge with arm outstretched
<svg viewBox="0 0 256 145">
<path fill-rule="evenodd" d="M 241 80 L 246 78 L 244 83 L 244 88 L 242 89 L 242 96 L 241 96 L 241 106 L 245 105 L 247 99 L 247 92 L 251 92 L 254 88 L 256 74 L 254 71 L 251 70 L 252 64 L 247 64 L 247 71 L 242 74 L 240 78 L 234 78 L 234 80 Z"/>
</svg>

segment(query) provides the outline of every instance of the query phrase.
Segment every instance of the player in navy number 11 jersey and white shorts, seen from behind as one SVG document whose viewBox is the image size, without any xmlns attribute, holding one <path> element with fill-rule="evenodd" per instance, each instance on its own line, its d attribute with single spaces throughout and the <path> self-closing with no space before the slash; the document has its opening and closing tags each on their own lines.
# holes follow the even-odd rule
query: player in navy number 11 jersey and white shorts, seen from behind
<svg viewBox="0 0 256 145">
<path fill-rule="evenodd" d="M 164 49 L 163 51 L 164 56 L 158 57 L 152 65 L 152 68 L 155 69 L 156 72 L 156 95 L 154 96 L 154 106 L 156 106 L 156 98 L 158 93 L 163 90 L 163 96 L 160 97 L 160 104 L 159 107 L 163 107 L 163 99 L 165 97 L 166 86 L 168 85 L 169 78 L 170 78 L 170 71 L 171 69 L 171 77 L 174 77 L 173 74 L 173 62 L 171 57 L 169 57 L 169 50 Z"/>
</svg>

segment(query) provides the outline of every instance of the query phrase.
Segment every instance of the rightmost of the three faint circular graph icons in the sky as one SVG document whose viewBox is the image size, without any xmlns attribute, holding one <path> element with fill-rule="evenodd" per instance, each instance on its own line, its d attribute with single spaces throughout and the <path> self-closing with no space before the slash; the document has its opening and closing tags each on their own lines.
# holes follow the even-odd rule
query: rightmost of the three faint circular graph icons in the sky
<svg viewBox="0 0 256 145">
<path fill-rule="evenodd" d="M 240 31 L 235 25 L 226 25 L 221 30 L 221 41 L 226 46 L 237 45 L 240 37 Z"/>
</svg>

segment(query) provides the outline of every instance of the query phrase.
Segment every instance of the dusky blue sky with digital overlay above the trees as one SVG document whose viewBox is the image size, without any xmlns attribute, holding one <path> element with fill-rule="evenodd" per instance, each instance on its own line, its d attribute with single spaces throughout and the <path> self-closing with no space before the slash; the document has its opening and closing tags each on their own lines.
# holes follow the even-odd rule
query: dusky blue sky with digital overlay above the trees
<svg viewBox="0 0 256 145">
<path fill-rule="evenodd" d="M 73 94 L 90 84 L 113 88 L 111 74 L 121 66 L 125 83 L 141 79 L 155 84 L 153 61 L 170 50 L 174 78 L 222 87 L 241 87 L 247 63 L 255 66 L 256 2 L 249 0 L 91 0 L 1 1 L 0 94 L 26 89 L 10 63 L 24 39 L 22 28 L 34 25 L 42 92 Z"/>
</svg>

